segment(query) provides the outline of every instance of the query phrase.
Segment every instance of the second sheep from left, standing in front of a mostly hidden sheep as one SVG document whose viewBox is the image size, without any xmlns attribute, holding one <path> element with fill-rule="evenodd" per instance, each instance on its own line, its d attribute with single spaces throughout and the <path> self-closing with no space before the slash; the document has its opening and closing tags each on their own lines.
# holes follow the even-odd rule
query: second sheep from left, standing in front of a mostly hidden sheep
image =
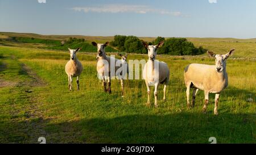
<svg viewBox="0 0 256 155">
<path fill-rule="evenodd" d="M 92 45 L 97 47 L 97 72 L 100 75 L 101 79 L 103 80 L 103 87 L 104 91 L 108 92 L 109 94 L 112 93 L 111 91 L 111 77 L 116 75 L 116 72 L 122 68 L 121 66 L 118 66 L 116 64 L 122 64 L 120 60 L 114 57 L 106 56 L 105 48 L 109 45 L 109 41 L 107 41 L 105 44 L 97 44 L 96 42 L 92 42 Z M 111 62 L 114 62 L 114 66 L 112 66 Z M 114 69 L 112 71 L 112 68 Z M 114 72 L 114 73 L 113 73 Z M 106 79 L 108 78 L 108 90 L 106 89 Z M 122 81 L 122 80 L 121 80 Z M 123 81 L 121 82 L 122 85 L 122 96 L 123 96 Z"/>
</svg>

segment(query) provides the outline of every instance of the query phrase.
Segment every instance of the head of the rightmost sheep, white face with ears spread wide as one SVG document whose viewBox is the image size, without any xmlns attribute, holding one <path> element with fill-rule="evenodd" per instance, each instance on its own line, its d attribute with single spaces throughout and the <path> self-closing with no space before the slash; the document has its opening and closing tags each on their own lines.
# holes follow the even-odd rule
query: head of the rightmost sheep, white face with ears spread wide
<svg viewBox="0 0 256 155">
<path fill-rule="evenodd" d="M 231 49 L 226 55 L 216 55 L 212 51 L 207 51 L 208 55 L 215 58 L 216 72 L 221 73 L 226 69 L 226 60 L 234 53 L 235 49 Z"/>
</svg>

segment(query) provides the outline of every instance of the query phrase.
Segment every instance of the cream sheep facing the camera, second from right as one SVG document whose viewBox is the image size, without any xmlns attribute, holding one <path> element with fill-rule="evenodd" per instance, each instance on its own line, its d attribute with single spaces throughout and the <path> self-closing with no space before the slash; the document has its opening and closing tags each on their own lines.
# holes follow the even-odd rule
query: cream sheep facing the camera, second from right
<svg viewBox="0 0 256 155">
<path fill-rule="evenodd" d="M 154 96 L 155 96 L 155 107 L 158 107 L 158 85 L 159 83 L 164 84 L 163 89 L 163 100 L 166 100 L 166 87 L 169 82 L 170 70 L 165 62 L 159 62 L 155 60 L 156 50 L 163 45 L 163 41 L 158 45 L 148 45 L 143 42 L 144 47 L 148 50 L 148 61 L 144 65 L 143 78 L 147 86 L 147 106 L 150 105 L 150 87 L 155 86 Z"/>
</svg>

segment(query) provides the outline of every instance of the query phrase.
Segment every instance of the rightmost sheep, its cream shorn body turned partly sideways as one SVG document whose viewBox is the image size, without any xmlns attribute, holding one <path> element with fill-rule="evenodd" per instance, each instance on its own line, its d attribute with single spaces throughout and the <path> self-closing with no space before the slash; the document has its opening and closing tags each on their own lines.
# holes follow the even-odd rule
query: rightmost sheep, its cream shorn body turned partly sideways
<svg viewBox="0 0 256 155">
<path fill-rule="evenodd" d="M 228 86 L 228 74 L 226 73 L 226 60 L 233 54 L 235 49 L 230 50 L 226 55 L 216 55 L 207 51 L 208 55 L 215 58 L 215 65 L 189 64 L 184 70 L 184 81 L 187 87 L 187 106 L 189 103 L 189 89 L 192 87 L 192 107 L 195 106 L 195 99 L 198 90 L 204 90 L 203 112 L 207 111 L 209 93 L 215 93 L 214 115 L 218 115 L 218 100 L 220 93 Z"/>
</svg>

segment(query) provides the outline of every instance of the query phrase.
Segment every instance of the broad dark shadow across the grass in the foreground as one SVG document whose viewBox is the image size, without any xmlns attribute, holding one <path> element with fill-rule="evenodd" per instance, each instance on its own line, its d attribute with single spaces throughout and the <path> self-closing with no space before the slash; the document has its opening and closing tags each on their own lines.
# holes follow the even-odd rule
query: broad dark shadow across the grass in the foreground
<svg viewBox="0 0 256 155">
<path fill-rule="evenodd" d="M 1 121 L 1 143 L 255 143 L 255 114 L 186 113 L 81 119 Z M 44 132 L 40 132 L 44 131 Z"/>
</svg>

